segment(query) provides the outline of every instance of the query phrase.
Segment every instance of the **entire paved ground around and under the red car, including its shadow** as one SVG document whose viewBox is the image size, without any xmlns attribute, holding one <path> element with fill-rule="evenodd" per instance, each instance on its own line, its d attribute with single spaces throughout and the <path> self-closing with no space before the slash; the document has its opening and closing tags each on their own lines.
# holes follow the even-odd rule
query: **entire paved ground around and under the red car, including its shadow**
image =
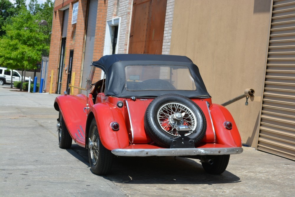
<svg viewBox="0 0 295 197">
<path fill-rule="evenodd" d="M 294 196 L 295 162 L 243 147 L 222 175 L 181 157 L 117 157 L 93 174 L 87 150 L 58 147 L 56 94 L 0 87 L 0 196 Z"/>
</svg>

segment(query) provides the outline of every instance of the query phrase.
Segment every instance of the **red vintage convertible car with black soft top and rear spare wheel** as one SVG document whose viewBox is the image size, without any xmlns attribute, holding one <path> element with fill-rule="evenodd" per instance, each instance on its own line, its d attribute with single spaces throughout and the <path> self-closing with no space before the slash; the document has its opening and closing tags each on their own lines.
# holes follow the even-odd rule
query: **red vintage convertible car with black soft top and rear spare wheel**
<svg viewBox="0 0 295 197">
<path fill-rule="evenodd" d="M 88 149 L 98 175 L 109 173 L 114 155 L 196 158 L 206 172 L 221 174 L 230 155 L 243 151 L 230 112 L 212 104 L 185 56 L 103 56 L 91 65 L 86 92 L 55 99 L 59 147 L 73 139 Z"/>
</svg>

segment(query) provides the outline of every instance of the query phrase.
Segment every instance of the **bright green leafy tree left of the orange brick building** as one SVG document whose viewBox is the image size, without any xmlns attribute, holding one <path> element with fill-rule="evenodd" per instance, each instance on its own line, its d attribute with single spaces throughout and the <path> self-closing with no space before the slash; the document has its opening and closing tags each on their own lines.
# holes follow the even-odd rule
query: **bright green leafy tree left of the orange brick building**
<svg viewBox="0 0 295 197">
<path fill-rule="evenodd" d="M 2 27 L 6 34 L 0 40 L 0 65 L 8 69 L 36 69 L 42 56 L 49 53 L 52 17 L 50 0 L 35 14 L 20 6 L 17 14 Z M 39 25 L 41 20 L 46 20 L 48 25 Z"/>
</svg>

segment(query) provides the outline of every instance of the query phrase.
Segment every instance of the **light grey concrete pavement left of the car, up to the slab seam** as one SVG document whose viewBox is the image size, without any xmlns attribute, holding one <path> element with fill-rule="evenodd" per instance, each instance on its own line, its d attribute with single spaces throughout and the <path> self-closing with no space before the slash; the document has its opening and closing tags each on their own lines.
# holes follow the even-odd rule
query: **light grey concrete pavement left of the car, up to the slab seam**
<svg viewBox="0 0 295 197">
<path fill-rule="evenodd" d="M 58 147 L 56 96 L 0 87 L 0 196 L 126 196 Z"/>
</svg>

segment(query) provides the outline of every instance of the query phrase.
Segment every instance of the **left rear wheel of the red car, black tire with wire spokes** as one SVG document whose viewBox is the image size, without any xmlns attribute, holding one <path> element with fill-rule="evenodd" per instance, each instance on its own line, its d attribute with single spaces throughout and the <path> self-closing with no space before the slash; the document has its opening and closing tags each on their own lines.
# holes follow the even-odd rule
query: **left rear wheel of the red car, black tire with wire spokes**
<svg viewBox="0 0 295 197">
<path fill-rule="evenodd" d="M 93 145 L 91 145 L 91 143 L 93 143 Z M 106 175 L 111 170 L 114 155 L 102 145 L 95 119 L 93 119 L 90 124 L 88 157 L 93 173 L 97 175 Z"/>
</svg>

